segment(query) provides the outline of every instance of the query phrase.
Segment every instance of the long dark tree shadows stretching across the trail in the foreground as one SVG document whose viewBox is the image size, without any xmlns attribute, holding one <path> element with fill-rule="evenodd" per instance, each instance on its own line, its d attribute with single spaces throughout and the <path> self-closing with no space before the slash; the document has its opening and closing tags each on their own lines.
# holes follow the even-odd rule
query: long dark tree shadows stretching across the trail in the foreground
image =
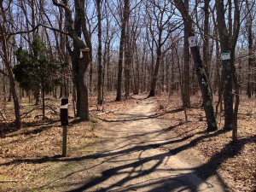
<svg viewBox="0 0 256 192">
<path fill-rule="evenodd" d="M 166 128 L 166 130 L 172 129 Z M 162 130 L 161 130 L 162 131 Z M 165 148 L 166 151 L 162 154 L 155 154 L 150 157 L 146 158 L 140 158 L 137 157 L 135 162 L 127 161 L 125 165 L 122 166 L 116 166 L 106 169 L 105 171 L 102 171 L 100 177 L 92 178 L 89 182 L 84 181 L 84 183 L 71 183 L 70 186 L 73 186 L 73 190 L 71 191 L 90 191 L 91 188 L 97 187 L 98 185 L 101 185 L 105 181 L 107 181 L 110 177 L 119 176 L 126 174 L 126 177 L 123 177 L 119 181 L 113 181 L 112 184 L 108 185 L 108 187 L 105 187 L 104 189 L 98 189 L 96 191 L 131 191 L 131 190 L 139 190 L 146 187 L 151 187 L 148 192 L 154 192 L 154 191 L 165 191 L 164 189 L 168 189 L 167 191 L 172 191 L 175 189 L 190 189 L 192 191 L 196 191 L 198 187 L 201 185 L 201 183 L 206 183 L 207 188 L 212 188 L 213 186 L 210 183 L 207 183 L 207 179 L 212 176 L 218 177 L 218 182 L 221 183 L 225 190 L 228 191 L 228 187 L 224 184 L 224 181 L 221 177 L 218 176 L 218 167 L 224 163 L 225 160 L 228 160 L 229 158 L 232 158 L 239 154 L 241 152 L 241 148 L 246 143 L 251 142 L 250 140 L 243 138 L 238 140 L 237 143 L 227 143 L 224 148 L 218 153 L 214 154 L 210 160 L 208 160 L 207 163 L 195 167 L 193 169 L 189 169 L 189 172 L 187 173 L 178 173 L 175 177 L 159 177 L 158 179 L 153 179 L 152 181 L 143 182 L 143 183 L 135 183 L 135 184 L 129 184 L 131 181 L 137 181 L 139 178 L 149 175 L 152 172 L 175 172 L 177 170 L 163 170 L 160 169 L 160 165 L 162 165 L 166 158 L 169 158 L 172 155 L 181 153 L 183 150 L 186 150 L 188 148 L 193 148 L 197 143 L 200 143 L 202 140 L 210 137 L 217 137 L 220 134 L 224 134 L 225 131 L 216 131 L 214 133 L 208 134 L 208 135 L 202 135 L 201 137 L 197 137 L 190 141 L 189 143 L 183 144 L 180 147 L 173 148 L 171 150 L 167 150 L 165 148 L 167 145 L 172 143 L 182 143 L 189 137 L 185 138 L 178 138 L 178 139 L 172 139 L 170 141 L 161 142 L 161 143 L 154 143 L 154 144 L 148 144 L 148 143 L 136 143 L 136 145 L 131 145 L 132 147 L 129 148 L 116 148 L 112 151 L 106 151 L 104 153 L 99 154 L 90 154 L 86 156 L 81 157 L 75 157 L 75 158 L 59 158 L 60 156 L 53 156 L 53 157 L 44 157 L 41 159 L 25 159 L 25 160 L 13 160 L 5 164 L 0 164 L 1 166 L 9 166 L 9 165 L 15 165 L 22 162 L 26 163 L 33 163 L 33 164 L 40 164 L 44 162 L 78 162 L 82 160 L 91 160 L 91 159 L 98 159 L 101 161 L 100 158 L 103 159 L 105 162 L 109 160 L 115 160 L 117 157 L 125 156 L 126 154 L 132 154 L 134 152 L 141 152 L 148 150 L 150 148 Z M 125 161 L 124 161 L 125 162 Z M 151 162 L 154 166 L 150 166 L 147 170 L 141 170 L 140 168 L 143 167 L 148 162 Z M 96 166 L 102 165 L 104 162 L 100 162 Z M 64 176 L 63 178 L 68 179 L 68 177 L 71 177 L 73 174 L 76 174 L 78 172 L 85 172 L 86 170 L 89 170 L 91 167 L 84 167 L 83 169 L 75 172 L 69 172 L 67 176 Z M 131 171 L 127 171 L 127 169 Z M 197 183 L 184 183 L 184 180 L 189 180 L 189 177 L 191 175 L 198 175 L 201 177 L 201 182 Z M 128 185 L 127 185 L 128 184 Z M 82 185 L 81 187 L 77 187 L 78 185 Z M 125 187 L 123 187 L 126 185 Z M 44 189 L 42 186 L 40 189 Z M 116 189 L 116 188 L 119 189 Z M 54 189 L 52 186 L 48 189 Z"/>
</svg>

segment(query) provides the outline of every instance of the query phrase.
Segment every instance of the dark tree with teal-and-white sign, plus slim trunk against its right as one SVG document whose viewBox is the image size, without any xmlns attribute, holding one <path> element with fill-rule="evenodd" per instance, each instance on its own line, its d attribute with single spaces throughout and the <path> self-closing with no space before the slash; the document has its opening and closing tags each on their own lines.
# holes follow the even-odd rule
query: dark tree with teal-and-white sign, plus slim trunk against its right
<svg viewBox="0 0 256 192">
<path fill-rule="evenodd" d="M 237 113 L 239 106 L 239 86 L 237 82 L 236 67 L 235 67 L 235 50 L 236 42 L 240 30 L 240 6 L 239 1 L 234 0 L 234 10 L 232 10 L 233 4 L 228 1 L 228 24 L 225 22 L 225 9 L 224 1 L 216 1 L 217 20 L 218 20 L 218 33 L 220 38 L 220 47 L 223 55 L 230 55 L 230 58 L 224 58 L 222 60 L 222 78 L 224 82 L 224 129 L 233 129 L 233 140 L 237 138 Z M 232 16 L 232 13 L 234 15 Z M 234 23 L 232 23 L 234 20 Z M 228 44 L 227 44 L 228 39 Z M 235 113 L 233 109 L 233 83 L 235 84 L 236 105 Z"/>
</svg>

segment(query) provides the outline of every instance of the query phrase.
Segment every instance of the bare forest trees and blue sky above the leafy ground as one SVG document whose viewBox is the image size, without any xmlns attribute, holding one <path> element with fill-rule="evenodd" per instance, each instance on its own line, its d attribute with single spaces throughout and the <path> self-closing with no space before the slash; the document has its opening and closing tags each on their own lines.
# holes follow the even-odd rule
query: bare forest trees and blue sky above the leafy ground
<svg viewBox="0 0 256 192">
<path fill-rule="evenodd" d="M 20 128 L 24 99 L 47 119 L 46 108 L 58 113 L 48 99 L 67 96 L 73 115 L 89 120 L 90 96 L 101 106 L 110 92 L 117 102 L 178 93 L 186 113 L 200 94 L 207 131 L 233 130 L 236 141 L 240 96 L 256 96 L 255 1 L 2 0 L 0 8 L 1 121 Z"/>
</svg>

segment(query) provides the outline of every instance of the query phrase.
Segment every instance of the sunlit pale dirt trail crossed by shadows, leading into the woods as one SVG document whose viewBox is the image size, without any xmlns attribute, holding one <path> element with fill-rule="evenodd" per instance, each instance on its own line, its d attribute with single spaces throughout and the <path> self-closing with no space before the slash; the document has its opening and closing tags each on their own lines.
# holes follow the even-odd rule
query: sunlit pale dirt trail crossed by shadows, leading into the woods
<svg viewBox="0 0 256 192">
<path fill-rule="evenodd" d="M 77 181 L 72 191 L 224 191 L 215 171 L 196 160 L 188 163 L 183 140 L 160 126 L 154 107 L 154 100 L 144 100 L 108 122 L 106 139 L 85 173 L 90 180 Z"/>
</svg>

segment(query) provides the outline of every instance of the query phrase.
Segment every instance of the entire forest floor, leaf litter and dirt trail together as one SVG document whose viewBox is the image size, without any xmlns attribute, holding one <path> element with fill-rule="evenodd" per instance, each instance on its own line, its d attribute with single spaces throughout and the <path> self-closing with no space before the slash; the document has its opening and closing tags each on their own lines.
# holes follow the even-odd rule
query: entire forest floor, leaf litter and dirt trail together
<svg viewBox="0 0 256 192">
<path fill-rule="evenodd" d="M 24 100 L 18 131 L 9 102 L 9 121 L 0 119 L 0 191 L 256 189 L 255 98 L 241 97 L 239 138 L 232 143 L 231 132 L 221 130 L 222 114 L 219 130 L 206 133 L 200 96 L 193 97 L 188 122 L 178 96 L 143 97 L 113 102 L 108 96 L 103 107 L 91 101 L 90 122 L 70 119 L 67 157 L 60 155 L 56 101 L 47 101 L 42 120 L 40 108 Z"/>
</svg>

